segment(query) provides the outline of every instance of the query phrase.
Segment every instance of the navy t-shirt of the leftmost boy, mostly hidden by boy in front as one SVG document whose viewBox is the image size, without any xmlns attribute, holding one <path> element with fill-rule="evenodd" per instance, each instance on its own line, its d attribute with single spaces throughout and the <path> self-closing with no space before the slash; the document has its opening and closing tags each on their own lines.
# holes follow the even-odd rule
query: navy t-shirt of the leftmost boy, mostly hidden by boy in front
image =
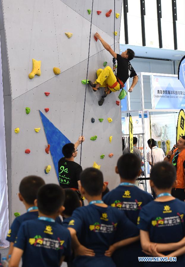
<svg viewBox="0 0 185 267">
<path fill-rule="evenodd" d="M 26 212 L 23 215 L 16 217 L 10 227 L 10 230 L 8 231 L 7 240 L 9 242 L 14 243 L 21 223 L 28 220 L 37 219 L 38 216 L 39 216 L 38 211 L 33 211 L 33 212 Z"/>
</svg>

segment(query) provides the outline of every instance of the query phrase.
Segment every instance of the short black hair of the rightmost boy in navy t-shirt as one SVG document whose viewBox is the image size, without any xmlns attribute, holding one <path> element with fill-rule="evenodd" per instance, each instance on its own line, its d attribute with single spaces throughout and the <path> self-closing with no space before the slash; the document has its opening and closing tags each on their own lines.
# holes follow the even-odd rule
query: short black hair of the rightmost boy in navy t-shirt
<svg viewBox="0 0 185 267">
<path fill-rule="evenodd" d="M 150 179 L 158 189 L 168 189 L 176 180 L 175 167 L 166 161 L 156 163 L 151 169 Z"/>
</svg>

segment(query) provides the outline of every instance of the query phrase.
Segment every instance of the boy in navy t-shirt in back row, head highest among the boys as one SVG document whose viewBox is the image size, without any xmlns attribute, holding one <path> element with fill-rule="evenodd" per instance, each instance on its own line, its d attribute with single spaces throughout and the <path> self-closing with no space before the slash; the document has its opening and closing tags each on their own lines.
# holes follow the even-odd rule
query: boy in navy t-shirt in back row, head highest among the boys
<svg viewBox="0 0 185 267">
<path fill-rule="evenodd" d="M 107 193 L 103 201 L 112 207 L 124 211 L 135 225 L 140 210 L 153 198 L 147 192 L 135 186 L 135 179 L 141 174 L 140 159 L 132 153 L 122 155 L 117 162 L 116 173 L 120 176 L 120 185 Z M 139 266 L 138 257 L 142 256 L 140 242 L 116 250 L 113 259 L 116 266 L 122 266 L 120 260 L 125 255 L 125 266 Z"/>
</svg>

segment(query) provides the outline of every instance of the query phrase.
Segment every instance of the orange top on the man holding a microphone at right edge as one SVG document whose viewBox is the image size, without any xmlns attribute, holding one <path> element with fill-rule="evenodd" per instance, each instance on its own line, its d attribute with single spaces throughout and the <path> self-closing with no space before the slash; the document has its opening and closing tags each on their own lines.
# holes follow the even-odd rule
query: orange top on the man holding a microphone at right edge
<svg viewBox="0 0 185 267">
<path fill-rule="evenodd" d="M 170 157 L 171 162 L 172 162 L 174 154 L 177 150 L 178 150 L 178 148 L 176 148 L 173 151 L 173 155 L 171 155 L 171 157 Z M 177 172 L 176 172 L 176 180 L 177 180 L 176 188 L 183 188 L 184 189 L 184 167 L 183 167 L 184 160 L 185 160 L 185 149 L 182 150 L 180 154 L 178 154 Z"/>
</svg>

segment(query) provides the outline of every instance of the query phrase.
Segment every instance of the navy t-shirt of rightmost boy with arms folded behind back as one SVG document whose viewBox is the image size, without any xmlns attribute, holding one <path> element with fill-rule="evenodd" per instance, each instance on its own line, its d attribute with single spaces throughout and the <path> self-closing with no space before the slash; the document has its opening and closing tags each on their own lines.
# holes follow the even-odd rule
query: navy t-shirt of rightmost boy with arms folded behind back
<svg viewBox="0 0 185 267">
<path fill-rule="evenodd" d="M 178 242 L 185 236 L 184 214 L 185 203 L 177 198 L 165 202 L 152 201 L 141 209 L 137 222 L 138 228 L 149 232 L 151 242 Z M 167 255 L 170 252 L 162 253 Z M 164 264 L 161 263 L 159 266 Z M 178 257 L 177 263 L 173 264 L 173 266 L 176 266 L 175 264 L 185 266 L 185 256 Z M 151 262 L 148 266 L 158 265 Z"/>
</svg>

